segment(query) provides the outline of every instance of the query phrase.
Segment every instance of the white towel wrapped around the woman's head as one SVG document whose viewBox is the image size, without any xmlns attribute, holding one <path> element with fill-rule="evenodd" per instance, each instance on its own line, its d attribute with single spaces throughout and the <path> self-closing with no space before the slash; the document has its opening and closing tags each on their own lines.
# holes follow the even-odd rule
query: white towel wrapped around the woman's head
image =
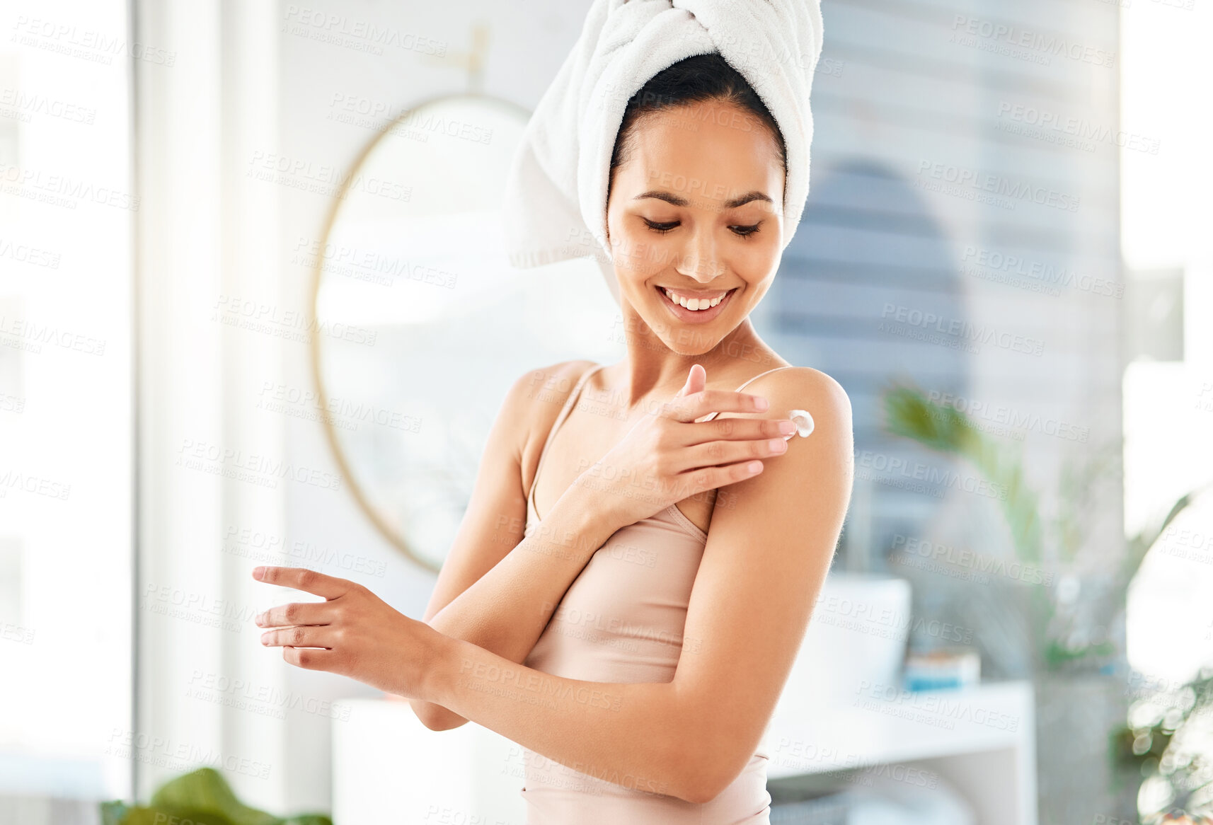
<svg viewBox="0 0 1213 825">
<path fill-rule="evenodd" d="M 594 0 L 540 98 L 506 184 L 509 261 L 594 256 L 619 301 L 606 241 L 606 187 L 628 99 L 687 57 L 719 52 L 779 124 L 787 155 L 784 245 L 809 194 L 809 91 L 821 55 L 818 0 Z"/>
</svg>

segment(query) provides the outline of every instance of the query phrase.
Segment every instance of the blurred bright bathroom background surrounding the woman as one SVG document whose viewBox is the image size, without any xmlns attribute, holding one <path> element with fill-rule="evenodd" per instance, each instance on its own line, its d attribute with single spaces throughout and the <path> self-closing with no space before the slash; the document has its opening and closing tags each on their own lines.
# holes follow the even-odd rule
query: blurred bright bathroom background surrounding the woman
<svg viewBox="0 0 1213 825">
<path fill-rule="evenodd" d="M 420 618 L 506 388 L 622 357 L 591 261 L 500 249 L 588 7 L 0 10 L 0 823 L 187 774 L 275 817 L 524 821 L 518 747 L 267 655 L 254 614 L 298 596 L 249 570 Z M 845 387 L 856 478 L 771 821 L 1201 821 L 1213 8 L 822 13 L 754 323 Z"/>
</svg>

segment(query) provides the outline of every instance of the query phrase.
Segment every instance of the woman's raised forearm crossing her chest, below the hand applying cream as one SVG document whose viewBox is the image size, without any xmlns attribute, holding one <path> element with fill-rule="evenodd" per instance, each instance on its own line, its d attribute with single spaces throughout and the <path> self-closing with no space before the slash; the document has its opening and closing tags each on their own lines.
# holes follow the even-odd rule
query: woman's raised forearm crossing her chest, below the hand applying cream
<svg viewBox="0 0 1213 825">
<path fill-rule="evenodd" d="M 530 535 L 426 624 L 444 636 L 520 662 L 569 585 L 614 531 L 600 508 L 592 505 L 592 494 L 574 485 Z M 410 704 L 435 730 L 467 721 L 434 702 L 414 699 Z"/>
</svg>

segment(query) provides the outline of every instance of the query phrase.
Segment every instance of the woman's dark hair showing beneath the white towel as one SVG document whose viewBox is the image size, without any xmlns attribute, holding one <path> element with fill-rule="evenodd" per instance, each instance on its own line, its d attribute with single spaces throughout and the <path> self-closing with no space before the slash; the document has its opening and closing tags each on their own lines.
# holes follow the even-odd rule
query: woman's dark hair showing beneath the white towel
<svg viewBox="0 0 1213 825">
<path fill-rule="evenodd" d="M 610 184 L 615 182 L 615 170 L 627 163 L 631 154 L 631 135 L 637 121 L 662 109 L 708 101 L 733 103 L 753 113 L 770 129 L 786 180 L 787 149 L 774 115 L 758 97 L 753 86 L 741 76 L 741 73 L 729 66 L 719 52 L 711 52 L 678 61 L 653 75 L 638 92 L 632 95 L 623 109 L 623 119 L 619 125 L 619 135 L 615 137 L 615 149 L 610 157 L 608 199 L 610 198 Z"/>
</svg>

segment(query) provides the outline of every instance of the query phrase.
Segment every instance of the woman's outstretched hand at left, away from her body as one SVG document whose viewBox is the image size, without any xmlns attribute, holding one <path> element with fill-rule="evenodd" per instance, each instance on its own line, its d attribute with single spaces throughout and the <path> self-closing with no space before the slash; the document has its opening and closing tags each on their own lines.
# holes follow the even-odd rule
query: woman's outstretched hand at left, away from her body
<svg viewBox="0 0 1213 825">
<path fill-rule="evenodd" d="M 307 568 L 258 567 L 252 578 L 323 596 L 324 602 L 281 604 L 258 614 L 267 647 L 307 670 L 348 676 L 408 699 L 428 699 L 445 637 L 394 610 L 366 587 Z"/>
</svg>

